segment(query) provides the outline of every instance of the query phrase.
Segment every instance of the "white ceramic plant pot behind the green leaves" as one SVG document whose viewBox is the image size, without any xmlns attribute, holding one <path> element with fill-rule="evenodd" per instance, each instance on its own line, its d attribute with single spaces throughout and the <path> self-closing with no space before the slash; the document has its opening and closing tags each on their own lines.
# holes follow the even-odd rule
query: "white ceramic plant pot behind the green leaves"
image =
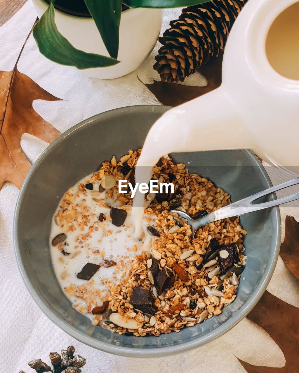
<svg viewBox="0 0 299 373">
<path fill-rule="evenodd" d="M 44 0 L 33 0 L 40 17 L 47 9 Z M 162 9 L 127 9 L 121 13 L 118 60 L 107 68 L 80 70 L 99 79 L 114 79 L 137 69 L 153 50 L 160 34 Z M 58 30 L 77 49 L 109 56 L 92 18 L 72 16 L 55 9 Z"/>
</svg>

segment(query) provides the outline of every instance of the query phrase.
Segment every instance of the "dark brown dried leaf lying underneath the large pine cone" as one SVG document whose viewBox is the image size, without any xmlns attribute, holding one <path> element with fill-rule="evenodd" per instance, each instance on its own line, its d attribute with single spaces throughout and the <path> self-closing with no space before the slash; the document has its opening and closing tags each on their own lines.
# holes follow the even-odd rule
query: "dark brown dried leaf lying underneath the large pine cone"
<svg viewBox="0 0 299 373">
<path fill-rule="evenodd" d="M 207 85 L 204 87 L 167 83 L 157 80 L 154 80 L 152 84 L 145 84 L 139 78 L 138 79 L 155 95 L 161 104 L 166 106 L 178 106 L 193 98 L 213 91 L 221 85 L 222 58 L 223 53 L 211 59 L 209 63 L 198 69 L 198 72 L 207 80 Z"/>
</svg>

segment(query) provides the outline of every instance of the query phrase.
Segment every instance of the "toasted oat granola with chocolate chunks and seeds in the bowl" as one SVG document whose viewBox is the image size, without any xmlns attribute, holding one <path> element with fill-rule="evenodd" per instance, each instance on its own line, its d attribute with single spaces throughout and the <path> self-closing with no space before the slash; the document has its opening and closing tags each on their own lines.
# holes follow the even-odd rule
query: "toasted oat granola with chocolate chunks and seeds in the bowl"
<svg viewBox="0 0 299 373">
<path fill-rule="evenodd" d="M 82 232 L 76 236 L 78 251 L 83 247 L 86 250 L 84 242 L 89 236 L 111 223 L 107 211 L 95 216 L 87 203 L 89 194 L 98 207 L 106 210 L 111 207 L 113 211 L 113 204 L 123 211 L 124 214 L 113 217 L 119 222 L 117 225 L 114 221 L 114 225 L 121 229 L 133 200 L 130 194 L 118 193 L 117 181 L 135 182 L 140 153 L 141 149 L 129 151 L 120 162 L 113 156 L 90 180 L 80 183 L 77 191 L 70 189 L 65 193 L 54 220 L 66 234 Z M 243 236 L 247 232 L 241 227 L 239 217 L 210 223 L 200 228 L 191 240 L 190 226 L 168 211 L 179 209 L 193 217 L 203 216 L 229 204 L 228 193 L 216 188 L 208 179 L 189 173 L 185 164 L 175 164 L 168 156 L 161 158 L 154 167 L 152 179 L 159 183 L 172 182 L 175 190 L 172 194 L 146 196 L 145 220 L 151 245 L 134 244 L 128 248 L 129 269 L 125 276 L 107 283 L 105 294 L 97 294 L 94 277 L 79 286 L 70 282 L 65 288 L 65 293 L 75 299 L 74 307 L 89 314 L 93 325 L 109 327 L 120 334 L 159 336 L 172 330 L 179 332 L 183 327 L 221 314 L 222 308 L 237 296 L 240 273 L 246 263 Z M 78 197 L 81 203 L 74 205 Z M 114 215 L 115 212 L 118 213 L 114 211 Z M 68 251 L 69 247 L 65 248 L 61 239 L 56 238 L 56 241 L 58 250 Z M 92 247 L 88 250 L 93 256 L 104 259 L 101 250 Z M 122 258 L 122 265 L 126 258 Z M 116 258 L 107 258 L 98 264 L 99 272 L 107 267 L 117 272 L 119 262 Z M 84 306 L 80 305 L 82 299 L 86 302 Z"/>
</svg>

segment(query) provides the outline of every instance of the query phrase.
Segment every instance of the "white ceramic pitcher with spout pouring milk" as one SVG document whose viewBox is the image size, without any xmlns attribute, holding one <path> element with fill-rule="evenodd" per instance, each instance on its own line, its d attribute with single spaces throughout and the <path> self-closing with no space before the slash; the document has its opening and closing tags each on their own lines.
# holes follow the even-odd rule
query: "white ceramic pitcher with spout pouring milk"
<svg viewBox="0 0 299 373">
<path fill-rule="evenodd" d="M 165 134 L 164 154 L 248 148 L 299 173 L 299 2 L 249 0 L 229 34 L 221 87 L 164 114 L 148 134 L 153 154 Z"/>
</svg>

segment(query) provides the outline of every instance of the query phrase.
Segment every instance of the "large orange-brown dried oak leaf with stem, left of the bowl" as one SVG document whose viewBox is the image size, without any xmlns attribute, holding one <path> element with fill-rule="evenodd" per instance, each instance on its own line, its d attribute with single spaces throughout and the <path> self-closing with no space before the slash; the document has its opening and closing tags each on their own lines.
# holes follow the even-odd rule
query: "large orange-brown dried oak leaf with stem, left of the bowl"
<svg viewBox="0 0 299 373">
<path fill-rule="evenodd" d="M 0 71 L 0 189 L 6 181 L 21 188 L 30 170 L 31 164 L 20 144 L 22 134 L 27 133 L 46 142 L 52 142 L 60 135 L 32 106 L 34 100 L 56 101 L 60 98 L 45 91 L 17 69 L 31 31 L 12 71 Z"/>
</svg>

